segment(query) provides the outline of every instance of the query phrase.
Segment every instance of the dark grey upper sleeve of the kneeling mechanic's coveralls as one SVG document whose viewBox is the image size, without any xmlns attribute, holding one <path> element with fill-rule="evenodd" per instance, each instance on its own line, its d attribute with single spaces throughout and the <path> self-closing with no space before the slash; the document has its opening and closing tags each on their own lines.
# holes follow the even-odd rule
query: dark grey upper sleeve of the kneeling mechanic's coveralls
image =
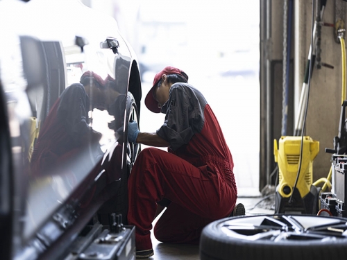
<svg viewBox="0 0 347 260">
<path fill-rule="evenodd" d="M 165 121 L 157 130 L 157 135 L 168 141 L 173 150 L 187 144 L 194 135 L 191 111 L 192 106 L 185 89 L 171 87 Z"/>
</svg>

